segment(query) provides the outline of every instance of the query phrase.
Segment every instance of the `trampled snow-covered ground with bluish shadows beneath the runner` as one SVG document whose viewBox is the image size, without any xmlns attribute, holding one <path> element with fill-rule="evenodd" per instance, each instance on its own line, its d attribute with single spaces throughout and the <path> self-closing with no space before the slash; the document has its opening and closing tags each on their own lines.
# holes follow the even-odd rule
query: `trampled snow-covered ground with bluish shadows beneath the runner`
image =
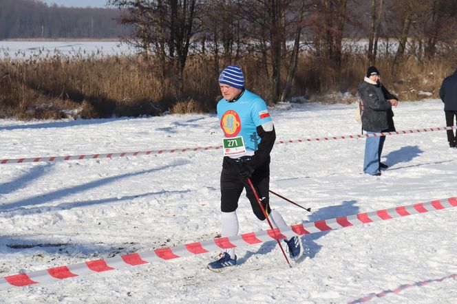
<svg viewBox="0 0 457 304">
<path fill-rule="evenodd" d="M 445 125 L 440 100 L 401 102 L 394 112 L 398 130 Z M 282 104 L 271 114 L 278 140 L 360 131 L 354 105 Z M 0 158 L 219 145 L 221 132 L 214 114 L 0 120 Z M 388 137 L 381 177 L 362 174 L 364 144 L 276 144 L 271 189 L 312 213 L 278 197 L 273 208 L 297 224 L 457 196 L 457 150 L 445 131 Z M 220 153 L 0 165 L 0 277 L 212 239 Z M 268 228 L 244 195 L 238 215 L 241 233 Z M 293 268 L 270 241 L 237 249 L 239 265 L 220 274 L 206 270 L 210 252 L 14 287 L 0 302 L 456 303 L 455 276 L 447 277 L 457 274 L 456 215 L 451 208 L 307 235 Z"/>
</svg>

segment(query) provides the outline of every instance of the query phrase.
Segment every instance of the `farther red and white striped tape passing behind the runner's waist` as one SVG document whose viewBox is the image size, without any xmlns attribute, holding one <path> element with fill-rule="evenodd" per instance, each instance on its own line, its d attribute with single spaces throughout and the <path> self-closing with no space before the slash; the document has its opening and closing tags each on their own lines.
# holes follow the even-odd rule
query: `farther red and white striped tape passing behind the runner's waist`
<svg viewBox="0 0 457 304">
<path fill-rule="evenodd" d="M 368 138 L 376 136 L 387 136 L 387 135 L 401 135 L 410 133 L 424 133 L 432 131 L 445 131 L 456 129 L 457 127 L 438 127 L 438 128 L 427 128 L 427 129 L 411 129 L 395 132 L 385 133 L 372 133 L 372 134 L 357 134 L 357 135 L 346 135 L 346 136 L 331 136 L 326 138 L 307 138 L 304 140 L 279 140 L 279 144 L 293 144 L 295 142 L 322 142 L 325 140 L 346 140 L 354 138 Z M 222 149 L 222 146 L 198 146 L 196 148 L 183 148 L 183 149 L 161 149 L 161 150 L 150 150 L 150 151 L 136 151 L 136 152 L 119 152 L 119 153 L 105 153 L 105 154 L 83 154 L 83 155 L 67 155 L 67 156 L 44 156 L 37 158 L 11 158 L 0 160 L 0 164 L 22 164 L 23 162 L 59 162 L 63 160 L 94 160 L 97 158 L 123 158 L 125 156 L 140 156 L 140 155 L 151 155 L 151 154 L 164 154 L 164 153 L 185 153 L 185 152 L 197 152 L 197 151 L 209 151 Z"/>
</svg>

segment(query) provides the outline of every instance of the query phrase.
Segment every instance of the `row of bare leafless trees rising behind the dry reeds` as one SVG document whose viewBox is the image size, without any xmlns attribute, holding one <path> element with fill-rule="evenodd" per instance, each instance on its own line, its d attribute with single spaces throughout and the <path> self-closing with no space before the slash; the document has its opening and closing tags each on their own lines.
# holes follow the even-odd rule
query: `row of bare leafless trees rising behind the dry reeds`
<svg viewBox="0 0 457 304">
<path fill-rule="evenodd" d="M 270 85 L 268 100 L 289 100 L 300 54 L 316 63 L 315 91 L 346 89 L 344 56 L 354 48 L 343 39 L 368 37 L 363 61 L 392 56 L 396 74 L 408 58 L 431 61 L 454 56 L 457 0 L 110 0 L 134 27 L 132 43 L 158 58 L 164 78 L 183 90 L 189 54 L 207 56 L 216 78 L 222 67 L 251 61 L 251 72 Z M 390 39 L 390 40 L 389 40 Z M 380 41 L 394 43 L 390 53 Z M 383 53 L 383 54 L 382 54 Z M 352 55 L 351 54 L 351 55 Z M 319 74 L 330 79 L 322 79 Z M 330 85 L 330 86 L 328 86 Z M 308 91 L 312 93 L 312 91 Z"/>
</svg>

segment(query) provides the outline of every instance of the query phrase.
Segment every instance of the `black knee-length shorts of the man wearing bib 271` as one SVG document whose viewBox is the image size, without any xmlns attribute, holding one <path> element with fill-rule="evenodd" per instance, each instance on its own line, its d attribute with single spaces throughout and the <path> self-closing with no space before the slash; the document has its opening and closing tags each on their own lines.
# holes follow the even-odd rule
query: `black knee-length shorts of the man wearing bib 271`
<svg viewBox="0 0 457 304">
<path fill-rule="evenodd" d="M 253 208 L 255 216 L 263 221 L 265 219 L 265 215 L 262 212 L 253 191 L 251 190 L 251 186 L 249 186 L 248 180 L 238 173 L 237 168 L 238 164 L 235 160 L 228 157 L 224 158 L 224 162 L 222 162 L 222 172 L 220 174 L 220 209 L 222 212 L 226 213 L 237 210 L 238 199 L 240 199 L 240 195 L 244 188 L 246 189 L 246 197 L 249 199 L 249 202 L 251 202 L 251 207 Z M 268 204 L 268 190 L 270 188 L 270 157 L 268 157 L 264 164 L 255 169 L 251 177 L 251 182 L 253 182 L 255 191 L 257 192 L 259 199 L 261 199 L 266 213 L 270 214 L 270 205 Z"/>
</svg>

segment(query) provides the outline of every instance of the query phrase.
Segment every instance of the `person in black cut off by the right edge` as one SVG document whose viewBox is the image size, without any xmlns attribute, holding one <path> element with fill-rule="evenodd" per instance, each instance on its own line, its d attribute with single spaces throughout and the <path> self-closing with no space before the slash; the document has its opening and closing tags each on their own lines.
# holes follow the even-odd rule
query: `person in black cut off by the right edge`
<svg viewBox="0 0 457 304">
<path fill-rule="evenodd" d="M 445 103 L 446 126 L 454 126 L 454 117 L 457 117 L 457 70 L 443 80 L 440 88 L 440 98 Z M 447 130 L 447 141 L 451 148 L 457 148 L 454 130 Z"/>
</svg>

